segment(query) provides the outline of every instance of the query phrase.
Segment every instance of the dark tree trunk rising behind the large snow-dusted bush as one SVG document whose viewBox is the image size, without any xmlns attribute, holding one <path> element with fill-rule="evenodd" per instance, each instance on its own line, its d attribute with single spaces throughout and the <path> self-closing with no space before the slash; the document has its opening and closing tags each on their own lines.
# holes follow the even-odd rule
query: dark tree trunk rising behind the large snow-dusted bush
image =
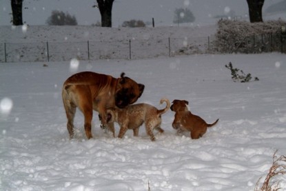
<svg viewBox="0 0 286 191">
<path fill-rule="evenodd" d="M 262 7 L 265 0 L 247 0 L 250 23 L 263 22 Z"/>
</svg>

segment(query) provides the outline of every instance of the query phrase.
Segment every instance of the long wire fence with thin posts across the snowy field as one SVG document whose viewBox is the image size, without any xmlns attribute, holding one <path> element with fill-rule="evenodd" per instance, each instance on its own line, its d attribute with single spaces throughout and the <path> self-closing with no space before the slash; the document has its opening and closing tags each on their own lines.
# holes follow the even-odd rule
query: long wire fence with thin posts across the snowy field
<svg viewBox="0 0 286 191">
<path fill-rule="evenodd" d="M 286 53 L 286 34 L 254 35 L 229 44 L 221 51 L 215 37 L 127 39 L 121 41 L 78 41 L 0 43 L 0 62 L 69 61 L 71 59 L 145 59 L 183 54 Z"/>
</svg>

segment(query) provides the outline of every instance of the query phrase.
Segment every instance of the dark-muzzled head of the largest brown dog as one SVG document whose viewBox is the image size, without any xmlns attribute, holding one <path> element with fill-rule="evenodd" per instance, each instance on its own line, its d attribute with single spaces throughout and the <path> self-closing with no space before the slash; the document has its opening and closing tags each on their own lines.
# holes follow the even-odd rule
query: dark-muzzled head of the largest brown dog
<svg viewBox="0 0 286 191">
<path fill-rule="evenodd" d="M 143 84 L 136 83 L 136 81 L 124 77 L 124 75 L 124 73 L 121 73 L 115 94 L 115 105 L 119 108 L 125 108 L 137 101 L 145 88 Z"/>
</svg>

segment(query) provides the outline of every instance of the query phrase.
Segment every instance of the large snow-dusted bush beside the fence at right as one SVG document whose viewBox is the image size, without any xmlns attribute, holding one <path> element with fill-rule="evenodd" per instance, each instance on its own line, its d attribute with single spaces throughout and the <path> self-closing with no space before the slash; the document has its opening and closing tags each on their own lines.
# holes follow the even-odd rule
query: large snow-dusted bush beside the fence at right
<svg viewBox="0 0 286 191">
<path fill-rule="evenodd" d="M 221 20 L 214 45 L 223 53 L 280 51 L 282 26 L 286 26 L 286 22 L 280 19 L 264 23 Z"/>
</svg>

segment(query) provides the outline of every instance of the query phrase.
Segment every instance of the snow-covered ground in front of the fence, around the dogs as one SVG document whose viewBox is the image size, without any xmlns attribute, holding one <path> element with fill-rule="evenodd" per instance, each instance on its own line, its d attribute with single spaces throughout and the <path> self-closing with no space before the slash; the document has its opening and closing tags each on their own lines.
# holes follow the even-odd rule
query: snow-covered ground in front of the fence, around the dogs
<svg viewBox="0 0 286 191">
<path fill-rule="evenodd" d="M 234 83 L 225 64 L 259 81 Z M 254 190 L 272 155 L 285 155 L 286 55 L 194 55 L 161 59 L 0 64 L 0 190 Z M 79 65 L 77 65 L 79 63 Z M 44 64 L 48 66 L 43 66 Z M 185 99 L 212 123 L 198 140 L 176 135 L 174 112 L 150 141 L 127 131 L 113 138 L 94 113 L 87 140 L 77 112 L 70 140 L 61 101 L 63 81 L 90 70 L 145 84 L 137 103 Z M 11 110 L 10 110 L 11 108 Z M 116 125 L 116 133 L 119 127 Z M 264 177 L 263 177 L 264 179 Z M 280 176 L 286 188 L 286 177 Z"/>
</svg>

